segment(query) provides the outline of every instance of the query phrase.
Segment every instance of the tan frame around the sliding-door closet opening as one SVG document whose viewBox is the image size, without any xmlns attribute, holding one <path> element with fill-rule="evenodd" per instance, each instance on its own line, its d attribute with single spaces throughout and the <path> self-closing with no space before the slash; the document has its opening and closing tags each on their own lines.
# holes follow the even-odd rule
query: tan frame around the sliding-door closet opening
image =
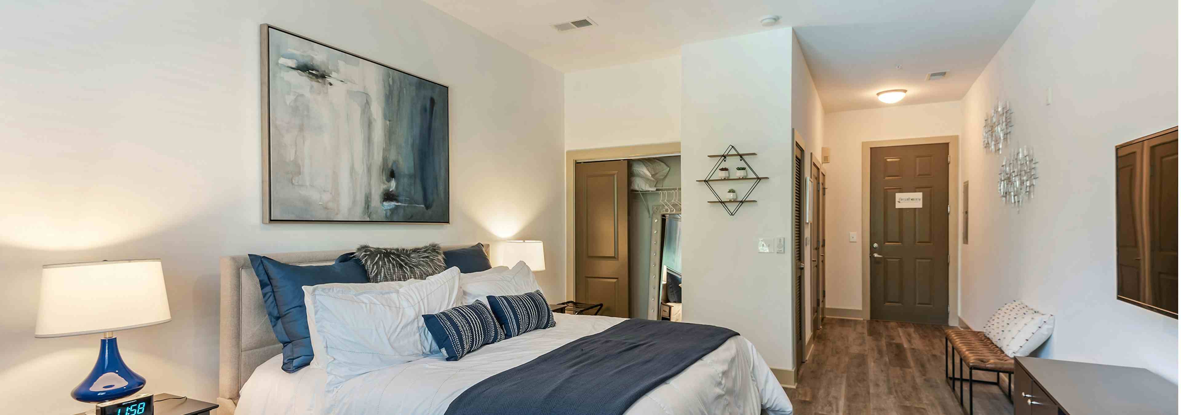
<svg viewBox="0 0 1181 415">
<path fill-rule="evenodd" d="M 574 165 L 585 162 L 680 156 L 680 141 L 566 151 L 566 301 L 574 299 Z"/>
</svg>

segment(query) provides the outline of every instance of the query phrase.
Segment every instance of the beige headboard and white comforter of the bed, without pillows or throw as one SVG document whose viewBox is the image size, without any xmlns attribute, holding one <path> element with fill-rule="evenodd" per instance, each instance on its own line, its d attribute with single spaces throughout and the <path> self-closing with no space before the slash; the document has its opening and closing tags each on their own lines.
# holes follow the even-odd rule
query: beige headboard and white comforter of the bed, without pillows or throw
<svg viewBox="0 0 1181 415">
<path fill-rule="evenodd" d="M 345 252 L 267 256 L 289 264 L 319 265 L 332 263 Z M 624 321 L 574 315 L 555 315 L 555 320 L 554 328 L 484 345 L 461 361 L 446 362 L 435 355 L 371 371 L 347 381 L 329 395 L 325 390 L 324 370 L 307 367 L 287 374 L 280 369 L 281 345 L 272 332 L 248 258 L 223 257 L 218 414 L 443 414 L 451 401 L 484 378 Z M 742 336 L 726 340 L 627 410 L 627 414 L 759 413 L 788 415 L 791 403 L 762 356 Z"/>
</svg>

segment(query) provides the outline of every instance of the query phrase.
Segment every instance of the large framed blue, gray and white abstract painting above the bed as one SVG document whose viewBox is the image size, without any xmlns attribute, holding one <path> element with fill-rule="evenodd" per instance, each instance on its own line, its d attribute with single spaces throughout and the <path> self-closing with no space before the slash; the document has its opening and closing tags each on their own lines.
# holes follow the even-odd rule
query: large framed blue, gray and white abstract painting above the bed
<svg viewBox="0 0 1181 415">
<path fill-rule="evenodd" d="M 263 223 L 449 223 L 448 86 L 262 25 Z"/>
</svg>

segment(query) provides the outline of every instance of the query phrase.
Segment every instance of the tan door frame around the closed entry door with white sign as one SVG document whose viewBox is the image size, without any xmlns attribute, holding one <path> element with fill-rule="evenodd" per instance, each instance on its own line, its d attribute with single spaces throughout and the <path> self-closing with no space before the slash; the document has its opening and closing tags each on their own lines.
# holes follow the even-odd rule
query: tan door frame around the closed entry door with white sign
<svg viewBox="0 0 1181 415">
<path fill-rule="evenodd" d="M 861 143 L 861 318 L 870 316 L 869 283 L 869 150 L 919 144 L 947 144 L 947 203 L 959 212 L 959 136 L 919 137 Z M 947 325 L 959 325 L 959 215 L 947 215 Z"/>
</svg>

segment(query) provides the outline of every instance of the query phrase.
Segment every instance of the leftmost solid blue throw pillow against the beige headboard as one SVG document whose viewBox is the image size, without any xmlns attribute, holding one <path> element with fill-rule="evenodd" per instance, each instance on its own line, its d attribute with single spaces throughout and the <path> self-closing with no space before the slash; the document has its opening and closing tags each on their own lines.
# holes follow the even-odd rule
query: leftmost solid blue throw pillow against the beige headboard
<svg viewBox="0 0 1181 415">
<path fill-rule="evenodd" d="M 270 329 L 283 344 L 283 371 L 295 373 L 312 363 L 312 340 L 308 338 L 307 311 L 304 309 L 304 285 L 327 283 L 367 283 L 365 266 L 350 253 L 332 265 L 291 265 L 263 256 L 250 255 L 250 266 L 262 288 Z"/>
</svg>

